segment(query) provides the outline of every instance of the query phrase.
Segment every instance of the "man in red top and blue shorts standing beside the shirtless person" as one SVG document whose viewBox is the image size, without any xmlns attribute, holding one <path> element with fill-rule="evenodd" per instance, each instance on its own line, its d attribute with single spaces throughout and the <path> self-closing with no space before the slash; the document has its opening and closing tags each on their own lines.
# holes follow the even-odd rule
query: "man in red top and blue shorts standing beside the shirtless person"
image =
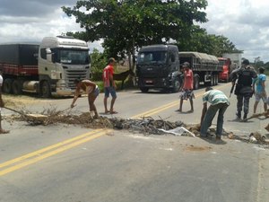
<svg viewBox="0 0 269 202">
<path fill-rule="evenodd" d="M 105 113 L 115 114 L 117 111 L 114 110 L 114 104 L 117 99 L 116 94 L 116 83 L 113 79 L 114 75 L 114 65 L 115 59 L 113 57 L 108 59 L 108 66 L 106 66 L 103 70 L 103 82 L 104 82 L 104 90 L 105 90 L 105 97 L 104 97 L 104 106 L 105 106 Z M 112 96 L 112 100 L 110 102 L 110 109 L 108 110 L 108 97 L 109 94 Z"/>
</svg>

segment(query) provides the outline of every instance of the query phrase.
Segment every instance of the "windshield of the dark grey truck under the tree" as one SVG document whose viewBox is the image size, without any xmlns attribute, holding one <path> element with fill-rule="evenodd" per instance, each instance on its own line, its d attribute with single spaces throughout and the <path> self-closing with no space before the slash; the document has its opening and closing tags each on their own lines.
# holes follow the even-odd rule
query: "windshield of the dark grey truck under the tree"
<svg viewBox="0 0 269 202">
<path fill-rule="evenodd" d="M 153 63 L 166 63 L 167 52 L 165 51 L 152 51 L 152 52 L 140 52 L 138 54 L 138 64 L 153 64 Z"/>
</svg>

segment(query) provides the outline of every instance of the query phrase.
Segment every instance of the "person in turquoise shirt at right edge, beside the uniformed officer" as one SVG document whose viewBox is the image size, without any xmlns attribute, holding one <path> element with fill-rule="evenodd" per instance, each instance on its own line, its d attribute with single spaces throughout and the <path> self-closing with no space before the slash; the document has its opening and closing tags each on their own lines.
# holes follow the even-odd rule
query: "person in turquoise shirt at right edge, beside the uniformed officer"
<svg viewBox="0 0 269 202">
<path fill-rule="evenodd" d="M 255 98 L 256 98 L 256 101 L 254 103 L 254 110 L 253 110 L 254 114 L 256 114 L 256 107 L 261 99 L 264 102 L 265 112 L 267 111 L 267 94 L 265 91 L 266 75 L 264 73 L 265 73 L 265 68 L 260 67 L 259 75 L 257 75 L 257 77 L 253 79 L 252 87 L 253 87 L 253 92 L 255 93 Z M 255 84 L 256 84 L 256 90 L 255 90 Z"/>
</svg>

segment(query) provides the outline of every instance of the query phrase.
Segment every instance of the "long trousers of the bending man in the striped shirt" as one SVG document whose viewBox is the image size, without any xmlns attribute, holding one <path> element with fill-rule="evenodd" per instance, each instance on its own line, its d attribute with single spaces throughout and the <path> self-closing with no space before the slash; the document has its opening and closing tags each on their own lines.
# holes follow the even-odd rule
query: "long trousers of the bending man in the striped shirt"
<svg viewBox="0 0 269 202">
<path fill-rule="evenodd" d="M 216 105 L 211 105 L 204 116 L 204 120 L 202 122 L 201 126 L 201 136 L 206 136 L 207 130 L 212 125 L 212 121 L 219 110 L 218 120 L 217 120 L 217 130 L 216 130 L 216 136 L 221 136 L 222 134 L 222 127 L 224 122 L 224 113 L 227 110 L 229 105 L 227 103 L 219 103 Z"/>
</svg>

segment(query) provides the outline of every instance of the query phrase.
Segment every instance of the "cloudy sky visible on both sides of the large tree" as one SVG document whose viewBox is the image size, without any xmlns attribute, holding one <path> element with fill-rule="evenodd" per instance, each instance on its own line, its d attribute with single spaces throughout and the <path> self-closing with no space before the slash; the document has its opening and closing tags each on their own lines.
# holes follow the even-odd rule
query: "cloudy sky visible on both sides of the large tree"
<svg viewBox="0 0 269 202">
<path fill-rule="evenodd" d="M 73 7 L 77 0 L 0 0 L 0 43 L 40 42 L 43 37 L 67 31 L 82 31 L 74 17 L 67 17 L 61 6 Z M 208 22 L 200 26 L 209 34 L 228 38 L 243 57 L 269 61 L 268 0 L 208 0 Z M 90 49 L 101 50 L 99 42 Z"/>
</svg>

